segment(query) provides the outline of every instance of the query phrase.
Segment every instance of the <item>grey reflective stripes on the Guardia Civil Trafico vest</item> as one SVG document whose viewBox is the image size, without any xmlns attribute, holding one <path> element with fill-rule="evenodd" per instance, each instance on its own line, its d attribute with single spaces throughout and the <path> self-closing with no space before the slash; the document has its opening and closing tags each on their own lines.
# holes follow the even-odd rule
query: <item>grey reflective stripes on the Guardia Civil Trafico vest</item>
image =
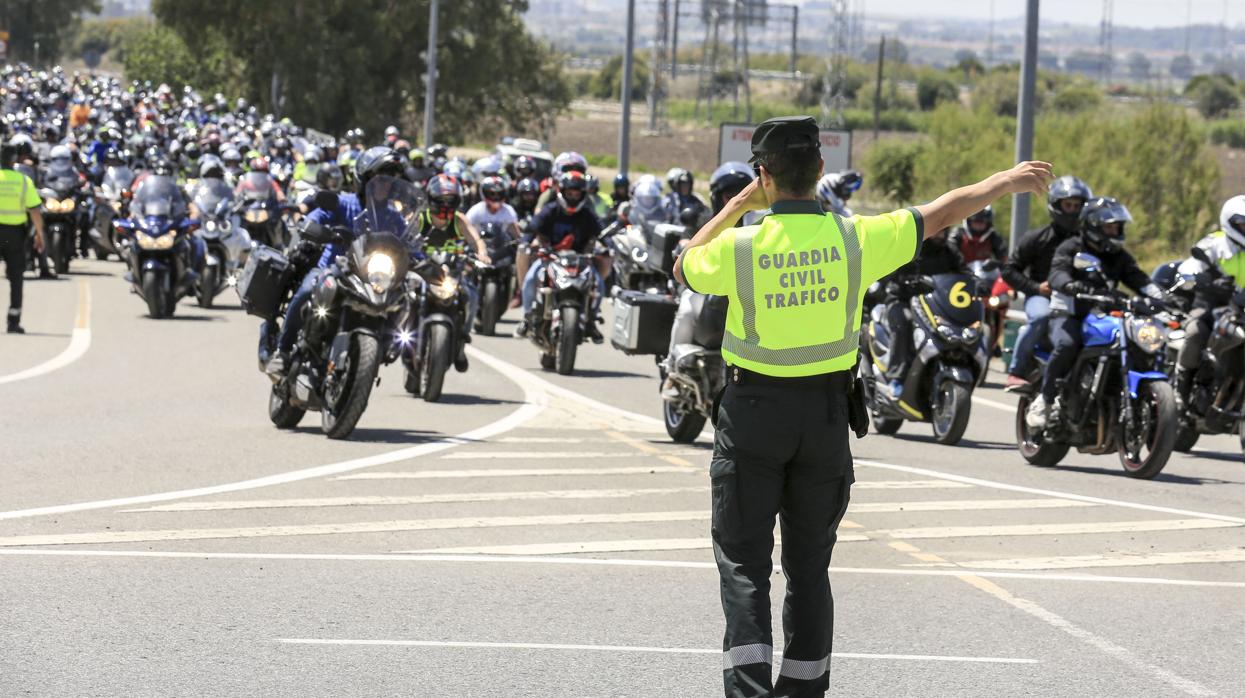
<svg viewBox="0 0 1245 698">
<path fill-rule="evenodd" d="M 843 337 L 833 342 L 808 345 L 803 347 L 767 348 L 761 346 L 757 333 L 757 300 L 752 289 L 752 238 L 756 233 L 735 239 L 735 289 L 738 294 L 743 316 L 743 337 L 737 337 L 730 328 L 722 336 L 722 350 L 759 363 L 773 366 L 803 366 L 818 363 L 854 352 L 860 347 L 860 330 L 855 327 L 860 296 L 860 240 L 857 238 L 852 219 L 834 216 L 843 235 L 843 256 L 848 263 L 848 287 L 844 306 Z"/>
</svg>

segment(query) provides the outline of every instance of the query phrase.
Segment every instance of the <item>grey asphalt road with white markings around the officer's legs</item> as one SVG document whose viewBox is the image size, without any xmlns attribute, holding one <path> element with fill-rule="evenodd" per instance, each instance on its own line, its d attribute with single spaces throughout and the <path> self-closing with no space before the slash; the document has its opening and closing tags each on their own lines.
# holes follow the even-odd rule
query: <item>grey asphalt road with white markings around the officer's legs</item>
<svg viewBox="0 0 1245 698">
<path fill-rule="evenodd" d="M 331 442 L 269 423 L 232 294 L 154 321 L 75 269 L 0 335 L 0 696 L 721 694 L 711 432 L 666 438 L 651 357 L 478 337 Z M 1041 469 L 1011 404 L 853 440 L 832 693 L 1245 694 L 1238 439 Z"/>
</svg>

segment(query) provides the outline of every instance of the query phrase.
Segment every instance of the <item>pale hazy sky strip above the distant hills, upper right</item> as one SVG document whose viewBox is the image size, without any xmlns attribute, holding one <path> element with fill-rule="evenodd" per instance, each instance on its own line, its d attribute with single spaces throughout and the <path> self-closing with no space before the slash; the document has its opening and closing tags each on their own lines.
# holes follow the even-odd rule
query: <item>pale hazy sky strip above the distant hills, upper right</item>
<svg viewBox="0 0 1245 698">
<path fill-rule="evenodd" d="M 991 1 L 995 17 L 1013 19 L 1025 15 L 1025 0 L 850 0 L 853 7 L 864 6 L 870 15 L 906 15 L 936 17 L 989 17 Z M 1245 0 L 1114 0 L 1117 25 L 1184 26 L 1191 5 L 1193 24 L 1219 24 L 1228 6 L 1228 24 L 1245 24 Z M 1041 0 L 1041 19 L 1073 24 L 1098 24 L 1102 19 L 1099 0 Z"/>
</svg>

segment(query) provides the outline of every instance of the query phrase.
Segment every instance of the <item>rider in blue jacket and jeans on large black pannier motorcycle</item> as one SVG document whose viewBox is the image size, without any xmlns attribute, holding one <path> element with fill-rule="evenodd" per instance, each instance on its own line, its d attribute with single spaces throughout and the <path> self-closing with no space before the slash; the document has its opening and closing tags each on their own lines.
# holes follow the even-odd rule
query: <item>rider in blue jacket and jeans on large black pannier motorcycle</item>
<svg viewBox="0 0 1245 698">
<path fill-rule="evenodd" d="M 376 147 L 365 151 L 355 159 L 357 194 L 339 193 L 335 208 L 317 208 L 308 214 L 306 220 L 325 226 L 349 228 L 354 230 L 355 219 L 359 218 L 359 214 L 364 212 L 364 207 L 366 205 L 364 199 L 367 193 L 367 183 L 374 177 L 382 174 L 402 177 L 406 169 L 405 165 L 403 159 L 390 148 Z M 276 351 L 273 352 L 273 357 L 264 368 L 274 378 L 284 376 L 289 367 L 290 352 L 294 350 L 294 342 L 303 328 L 303 310 L 308 301 L 311 300 L 312 289 L 315 289 L 315 285 L 324 276 L 329 265 L 334 264 L 337 255 L 344 254 L 346 249 L 347 245 L 337 243 L 325 245 L 315 266 L 303 276 L 303 281 L 285 309 L 285 322 L 281 325 L 281 333 L 276 337 Z M 260 328 L 260 332 L 268 332 L 266 323 Z"/>
</svg>

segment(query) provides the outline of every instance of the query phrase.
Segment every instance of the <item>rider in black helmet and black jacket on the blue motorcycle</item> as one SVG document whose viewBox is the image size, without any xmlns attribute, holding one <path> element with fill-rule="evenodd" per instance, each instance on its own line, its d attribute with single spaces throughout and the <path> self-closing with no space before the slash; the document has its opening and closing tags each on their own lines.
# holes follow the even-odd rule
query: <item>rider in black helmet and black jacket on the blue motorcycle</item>
<svg viewBox="0 0 1245 698">
<path fill-rule="evenodd" d="M 1050 328 L 1053 350 L 1042 376 L 1042 392 L 1025 416 L 1031 429 L 1046 428 L 1059 381 L 1068 375 L 1081 351 L 1081 322 L 1091 306 L 1076 300 L 1076 295 L 1104 290 L 1087 272 L 1076 269 L 1073 260 L 1078 253 L 1087 251 L 1099 259 L 1102 265 L 1098 272 L 1108 284 L 1119 281 L 1148 299 L 1163 299 L 1149 275 L 1124 250 L 1124 225 L 1132 223 L 1133 216 L 1123 204 L 1109 197 L 1093 199 L 1081 209 L 1079 220 L 1081 235 L 1059 243 L 1051 260 L 1050 284 L 1055 296 L 1051 300 Z"/>
</svg>

